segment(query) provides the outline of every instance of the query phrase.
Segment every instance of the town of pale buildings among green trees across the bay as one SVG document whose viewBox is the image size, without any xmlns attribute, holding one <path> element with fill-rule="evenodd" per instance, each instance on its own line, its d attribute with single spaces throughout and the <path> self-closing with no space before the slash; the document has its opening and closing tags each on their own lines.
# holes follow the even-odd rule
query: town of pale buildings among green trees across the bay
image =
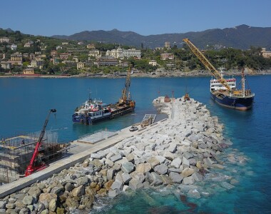
<svg viewBox="0 0 271 214">
<path fill-rule="evenodd" d="M 2 30 L 3 31 L 3 30 Z M 3 35 L 3 34 L 2 34 Z M 20 31 L 0 34 L 0 76 L 106 77 L 126 76 L 129 64 L 134 77 L 208 76 L 210 73 L 188 51 L 165 41 L 164 46 L 147 49 L 89 41 L 24 36 Z M 208 51 L 208 50 L 207 50 Z M 258 49 L 262 60 L 271 51 Z M 203 50 L 203 53 L 205 50 Z M 250 75 L 271 73 L 268 68 L 247 67 Z M 236 66 L 228 74 L 240 74 Z"/>
</svg>

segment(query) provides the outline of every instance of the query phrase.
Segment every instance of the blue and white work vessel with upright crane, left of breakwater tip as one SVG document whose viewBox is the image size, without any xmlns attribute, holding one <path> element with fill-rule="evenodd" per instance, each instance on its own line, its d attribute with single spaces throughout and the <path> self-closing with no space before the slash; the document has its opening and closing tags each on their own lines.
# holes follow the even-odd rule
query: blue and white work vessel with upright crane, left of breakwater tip
<svg viewBox="0 0 271 214">
<path fill-rule="evenodd" d="M 113 119 L 131 113 L 136 108 L 136 101 L 131 100 L 129 88 L 131 85 L 131 67 L 127 71 L 125 88 L 122 90 L 118 103 L 106 105 L 102 101 L 93 100 L 90 96 L 83 106 L 77 107 L 72 115 L 73 123 L 89 125 L 102 121 L 103 119 Z"/>
</svg>

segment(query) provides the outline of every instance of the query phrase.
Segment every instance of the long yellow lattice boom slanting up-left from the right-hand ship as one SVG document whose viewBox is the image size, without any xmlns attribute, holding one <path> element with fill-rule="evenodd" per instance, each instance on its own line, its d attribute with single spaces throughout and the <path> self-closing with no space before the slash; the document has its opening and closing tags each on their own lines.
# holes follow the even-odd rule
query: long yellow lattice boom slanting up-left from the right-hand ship
<svg viewBox="0 0 271 214">
<path fill-rule="evenodd" d="M 208 59 L 203 55 L 203 53 L 200 52 L 200 50 L 189 40 L 189 39 L 183 39 L 186 44 L 188 44 L 189 48 L 195 56 L 198 57 L 198 59 L 203 63 L 203 65 L 211 72 L 213 73 L 213 76 L 221 83 L 227 90 L 232 91 L 232 88 L 227 84 L 227 81 L 223 76 L 220 75 L 219 71 L 215 69 L 215 67 L 208 61 Z"/>
</svg>

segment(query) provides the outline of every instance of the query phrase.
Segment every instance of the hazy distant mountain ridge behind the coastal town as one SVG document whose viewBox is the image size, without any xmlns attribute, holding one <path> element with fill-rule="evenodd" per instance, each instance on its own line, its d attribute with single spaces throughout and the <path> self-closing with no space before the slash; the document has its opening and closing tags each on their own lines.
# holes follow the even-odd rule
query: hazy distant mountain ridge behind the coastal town
<svg viewBox="0 0 271 214">
<path fill-rule="evenodd" d="M 189 38 L 196 46 L 204 49 L 209 46 L 225 46 L 234 49 L 250 49 L 250 46 L 261 46 L 271 48 L 271 27 L 252 27 L 245 24 L 226 29 L 209 29 L 199 32 L 188 32 L 184 34 L 159 34 L 142 36 L 133 31 L 82 31 L 71 36 L 54 35 L 57 39 L 101 41 L 104 43 L 116 43 L 130 46 L 155 48 L 164 46 L 165 41 L 170 45 L 182 45 L 184 38 Z"/>
</svg>

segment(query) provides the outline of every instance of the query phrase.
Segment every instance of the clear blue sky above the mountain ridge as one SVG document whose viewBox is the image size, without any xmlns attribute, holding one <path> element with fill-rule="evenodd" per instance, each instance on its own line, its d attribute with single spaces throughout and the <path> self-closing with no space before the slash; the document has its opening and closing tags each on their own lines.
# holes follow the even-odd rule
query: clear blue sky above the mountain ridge
<svg viewBox="0 0 271 214">
<path fill-rule="evenodd" d="M 133 31 L 143 36 L 271 27 L 271 0 L 3 0 L 0 28 L 41 36 Z"/>
</svg>

